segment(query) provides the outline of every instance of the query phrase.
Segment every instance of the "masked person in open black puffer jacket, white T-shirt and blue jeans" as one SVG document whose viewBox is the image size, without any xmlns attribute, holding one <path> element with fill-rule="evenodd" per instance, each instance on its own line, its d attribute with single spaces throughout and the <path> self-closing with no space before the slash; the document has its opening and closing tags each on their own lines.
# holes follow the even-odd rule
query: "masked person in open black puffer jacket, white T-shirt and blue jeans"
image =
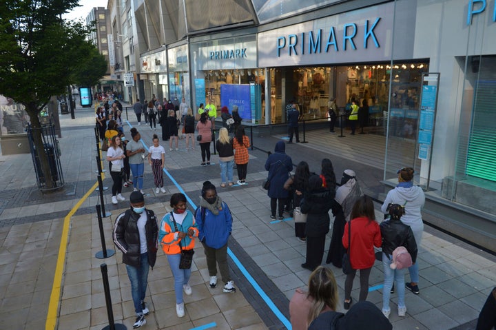
<svg viewBox="0 0 496 330">
<path fill-rule="evenodd" d="M 131 208 L 117 216 L 114 224 L 114 243 L 123 252 L 123 263 L 131 282 L 131 295 L 136 311 L 133 328 L 146 324 L 149 309 L 145 303 L 149 267 L 154 267 L 158 249 L 158 226 L 152 210 L 145 209 L 141 192 L 132 192 Z M 141 237 L 146 245 L 141 245 Z"/>
</svg>

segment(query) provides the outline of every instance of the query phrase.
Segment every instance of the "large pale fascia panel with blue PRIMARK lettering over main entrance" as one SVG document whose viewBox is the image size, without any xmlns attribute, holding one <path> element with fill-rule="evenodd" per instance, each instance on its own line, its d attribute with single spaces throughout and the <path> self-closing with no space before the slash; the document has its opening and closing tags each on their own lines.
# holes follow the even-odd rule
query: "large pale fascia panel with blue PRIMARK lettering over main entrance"
<svg viewBox="0 0 496 330">
<path fill-rule="evenodd" d="M 402 22 L 402 30 L 411 35 L 415 31 L 415 15 L 411 13 L 416 12 L 416 1 L 406 2 L 402 5 L 404 8 L 397 8 L 396 15 Z M 395 14 L 393 5 L 384 3 L 261 32 L 258 34 L 258 66 L 389 61 Z M 411 58 L 411 40 L 396 39 L 395 56 Z"/>
</svg>

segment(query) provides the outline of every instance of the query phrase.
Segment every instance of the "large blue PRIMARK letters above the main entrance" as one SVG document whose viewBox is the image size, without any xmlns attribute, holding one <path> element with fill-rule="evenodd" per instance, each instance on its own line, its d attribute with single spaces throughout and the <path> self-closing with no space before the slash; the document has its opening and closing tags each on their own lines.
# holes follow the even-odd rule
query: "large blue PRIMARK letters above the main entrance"
<svg viewBox="0 0 496 330">
<path fill-rule="evenodd" d="M 379 41 L 375 36 L 374 29 L 380 21 L 380 17 L 377 17 L 373 23 L 369 23 L 367 19 L 364 23 L 362 29 L 363 33 L 363 48 L 366 49 L 369 45 L 369 39 L 373 41 L 375 48 L 379 48 Z M 357 38 L 357 31 L 359 26 L 357 23 L 347 23 L 344 24 L 342 28 L 342 50 L 351 49 L 356 50 L 357 46 L 355 44 Z M 327 35 L 327 38 L 326 38 Z M 324 41 L 327 40 L 327 41 Z M 358 41 L 356 41 L 358 43 Z M 308 54 L 315 54 L 322 52 L 322 44 L 324 43 L 324 52 L 329 52 L 329 48 L 338 52 L 340 50 L 339 37 L 336 36 L 335 27 L 331 26 L 327 32 L 322 32 L 319 29 L 317 32 L 302 32 L 300 34 L 289 34 L 287 37 L 278 37 L 277 39 L 277 55 L 280 57 L 281 50 L 287 48 L 289 56 L 305 54 L 307 50 Z"/>
</svg>

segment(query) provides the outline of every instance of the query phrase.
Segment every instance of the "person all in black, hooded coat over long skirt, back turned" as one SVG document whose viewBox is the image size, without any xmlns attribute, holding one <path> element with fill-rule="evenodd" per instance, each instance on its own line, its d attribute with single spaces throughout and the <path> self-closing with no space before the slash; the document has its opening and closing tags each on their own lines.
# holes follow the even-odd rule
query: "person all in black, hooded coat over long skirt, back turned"
<svg viewBox="0 0 496 330">
<path fill-rule="evenodd" d="M 304 194 L 300 207 L 307 214 L 307 257 L 302 267 L 313 271 L 322 263 L 325 236 L 329 232 L 329 209 L 332 198 L 329 189 L 322 187 L 322 178 L 313 175 L 309 178 L 309 192 Z"/>
</svg>

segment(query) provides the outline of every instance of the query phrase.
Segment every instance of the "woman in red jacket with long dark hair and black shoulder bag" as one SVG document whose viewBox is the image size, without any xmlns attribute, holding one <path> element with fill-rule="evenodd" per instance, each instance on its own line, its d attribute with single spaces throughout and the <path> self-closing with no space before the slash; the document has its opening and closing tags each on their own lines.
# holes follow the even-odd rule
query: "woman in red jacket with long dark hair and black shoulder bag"
<svg viewBox="0 0 496 330">
<path fill-rule="evenodd" d="M 348 227 L 351 224 L 351 243 L 348 244 Z M 358 198 L 351 211 L 351 220 L 344 225 L 342 244 L 349 248 L 351 271 L 344 281 L 344 309 L 351 305 L 351 289 L 357 269 L 360 269 L 360 301 L 369 294 L 369 276 L 375 261 L 373 247 L 382 245 L 380 227 L 375 222 L 372 199 L 369 196 Z M 350 246 L 349 246 L 350 245 Z"/>
</svg>

